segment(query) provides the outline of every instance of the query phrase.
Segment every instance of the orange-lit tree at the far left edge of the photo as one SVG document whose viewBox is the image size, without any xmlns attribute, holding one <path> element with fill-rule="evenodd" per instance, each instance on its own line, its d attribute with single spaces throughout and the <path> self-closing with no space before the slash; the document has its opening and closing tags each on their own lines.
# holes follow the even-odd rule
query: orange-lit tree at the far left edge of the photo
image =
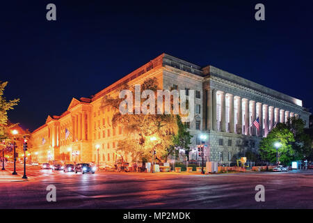
<svg viewBox="0 0 313 223">
<path fill-rule="evenodd" d="M 8 110 L 13 109 L 19 102 L 19 99 L 7 101 L 4 97 L 4 89 L 8 85 L 8 82 L 0 82 L 0 138 L 6 138 L 8 128 Z"/>
</svg>

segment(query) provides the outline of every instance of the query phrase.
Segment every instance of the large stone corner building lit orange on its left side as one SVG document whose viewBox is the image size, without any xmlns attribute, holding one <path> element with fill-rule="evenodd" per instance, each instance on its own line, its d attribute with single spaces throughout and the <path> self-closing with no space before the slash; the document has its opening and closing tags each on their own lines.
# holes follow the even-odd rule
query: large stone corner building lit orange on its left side
<svg viewBox="0 0 313 223">
<path fill-rule="evenodd" d="M 301 100 L 214 66 L 202 68 L 161 54 L 90 98 L 73 98 L 61 116 L 48 116 L 45 125 L 32 134 L 33 158 L 38 162 L 115 162 L 117 141 L 125 136 L 120 126 L 112 127 L 113 113 L 110 107 L 102 108 L 102 97 L 116 93 L 125 83 L 141 84 L 150 77 L 156 77 L 163 89 L 195 91 L 195 118 L 188 123 L 193 134 L 192 159 L 199 159 L 196 148 L 205 144 L 211 161 L 234 161 L 248 150 L 257 150 L 259 140 L 275 123 L 290 116 L 302 118 L 308 127 L 310 113 Z M 252 125 L 257 117 L 258 132 Z M 200 134 L 207 139 L 200 140 Z"/>
</svg>

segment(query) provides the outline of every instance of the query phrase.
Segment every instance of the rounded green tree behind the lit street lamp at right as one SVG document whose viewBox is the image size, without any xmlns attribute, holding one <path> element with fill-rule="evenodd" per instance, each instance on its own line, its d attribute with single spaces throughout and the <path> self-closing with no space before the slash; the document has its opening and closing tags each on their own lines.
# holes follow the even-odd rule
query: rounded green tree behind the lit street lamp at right
<svg viewBox="0 0 313 223">
<path fill-rule="evenodd" d="M 259 144 L 259 153 L 262 160 L 272 163 L 276 162 L 277 151 L 274 145 L 276 142 L 279 142 L 279 160 L 282 164 L 289 164 L 296 154 L 292 147 L 294 141 L 294 134 L 287 128 L 287 125 L 278 123 Z"/>
</svg>

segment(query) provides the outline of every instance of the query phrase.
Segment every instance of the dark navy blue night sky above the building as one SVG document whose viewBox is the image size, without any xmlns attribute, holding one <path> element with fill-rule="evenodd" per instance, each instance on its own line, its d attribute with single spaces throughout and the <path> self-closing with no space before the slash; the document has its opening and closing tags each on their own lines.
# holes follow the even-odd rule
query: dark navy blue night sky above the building
<svg viewBox="0 0 313 223">
<path fill-rule="evenodd" d="M 57 20 L 46 20 L 55 3 Z M 264 3 L 266 20 L 255 20 Z M 312 1 L 1 2 L 0 80 L 10 121 L 35 130 L 163 52 L 313 107 Z"/>
</svg>

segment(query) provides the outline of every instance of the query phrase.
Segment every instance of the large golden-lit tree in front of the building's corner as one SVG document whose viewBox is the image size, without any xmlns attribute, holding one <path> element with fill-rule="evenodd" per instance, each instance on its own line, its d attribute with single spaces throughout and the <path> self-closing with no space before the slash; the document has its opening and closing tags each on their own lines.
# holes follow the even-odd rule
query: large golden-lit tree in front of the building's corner
<svg viewBox="0 0 313 223">
<path fill-rule="evenodd" d="M 135 88 L 125 84 L 118 90 L 129 89 L 134 95 Z M 141 94 L 145 90 L 151 90 L 156 93 L 158 82 L 156 78 L 146 79 L 141 84 Z M 141 105 L 150 100 L 149 109 L 154 109 L 151 103 L 152 98 L 143 99 Z M 118 149 L 122 157 L 130 155 L 132 160 L 152 160 L 153 153 L 156 151 L 157 159 L 167 160 L 167 157 L 175 144 L 184 146 L 188 143 L 188 134 L 182 126 L 180 117 L 172 114 L 135 114 L 136 106 L 132 109 L 132 114 L 121 114 L 120 105 L 124 98 L 118 98 L 114 95 L 105 95 L 102 98 L 102 108 L 107 106 L 113 108 L 112 124 L 113 128 L 122 125 L 125 138 L 118 141 Z M 134 98 L 133 105 L 135 105 Z M 155 105 L 157 99 L 154 98 Z M 130 112 L 131 113 L 131 112 Z M 178 137 L 180 136 L 180 137 Z M 185 139 L 181 139 L 181 137 Z M 190 142 L 190 141 L 189 141 Z"/>
</svg>

